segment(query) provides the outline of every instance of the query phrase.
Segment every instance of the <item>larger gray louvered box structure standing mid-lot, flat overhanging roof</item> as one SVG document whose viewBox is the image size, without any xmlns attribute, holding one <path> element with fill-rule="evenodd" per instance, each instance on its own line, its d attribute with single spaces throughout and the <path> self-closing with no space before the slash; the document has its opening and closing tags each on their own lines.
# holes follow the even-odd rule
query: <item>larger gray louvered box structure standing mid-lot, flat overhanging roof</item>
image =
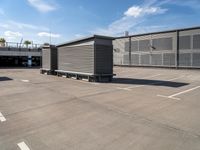
<svg viewBox="0 0 200 150">
<path fill-rule="evenodd" d="M 89 80 L 111 80 L 113 77 L 114 38 L 94 35 L 57 45 L 57 73 L 87 77 Z"/>
</svg>

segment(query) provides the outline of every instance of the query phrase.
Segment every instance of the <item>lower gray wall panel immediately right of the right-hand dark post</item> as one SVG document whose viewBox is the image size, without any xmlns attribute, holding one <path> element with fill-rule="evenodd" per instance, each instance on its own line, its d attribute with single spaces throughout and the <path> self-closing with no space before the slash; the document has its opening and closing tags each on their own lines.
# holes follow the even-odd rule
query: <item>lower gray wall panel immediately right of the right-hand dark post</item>
<svg viewBox="0 0 200 150">
<path fill-rule="evenodd" d="M 187 67 L 191 66 L 191 53 L 179 54 L 179 66 Z"/>
</svg>

